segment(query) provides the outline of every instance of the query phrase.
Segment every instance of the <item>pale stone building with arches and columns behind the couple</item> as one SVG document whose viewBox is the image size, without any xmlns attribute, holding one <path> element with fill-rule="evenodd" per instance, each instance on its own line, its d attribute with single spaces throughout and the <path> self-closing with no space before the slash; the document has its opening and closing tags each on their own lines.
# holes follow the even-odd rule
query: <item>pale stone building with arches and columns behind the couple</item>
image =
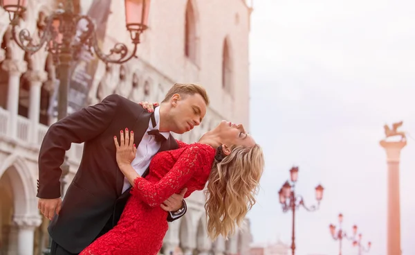
<svg viewBox="0 0 415 255">
<path fill-rule="evenodd" d="M 129 45 L 123 5 L 118 0 L 74 0 L 75 9 L 98 24 L 105 52 L 116 42 Z M 56 7 L 53 0 L 28 0 L 21 27 L 36 35 L 44 27 L 45 15 Z M 160 101 L 175 82 L 196 82 L 207 89 L 212 103 L 201 126 L 178 139 L 197 141 L 222 119 L 249 129 L 251 11 L 243 0 L 151 1 L 149 29 L 142 35 L 138 58 L 108 66 L 82 58 L 73 67 L 71 85 L 83 83 L 88 91 L 70 93 L 69 106 L 73 111 L 113 93 L 137 102 Z M 39 255 L 48 245 L 48 220 L 37 209 L 37 157 L 48 125 L 56 121 L 58 82 L 52 56 L 44 49 L 24 53 L 10 39 L 9 23 L 0 8 L 0 254 Z M 73 144 L 67 155 L 65 181 L 70 183 L 82 144 Z M 169 226 L 161 253 L 249 254 L 248 219 L 229 240 L 211 243 L 205 232 L 203 193 L 189 197 L 187 206 L 186 215 Z"/>
</svg>

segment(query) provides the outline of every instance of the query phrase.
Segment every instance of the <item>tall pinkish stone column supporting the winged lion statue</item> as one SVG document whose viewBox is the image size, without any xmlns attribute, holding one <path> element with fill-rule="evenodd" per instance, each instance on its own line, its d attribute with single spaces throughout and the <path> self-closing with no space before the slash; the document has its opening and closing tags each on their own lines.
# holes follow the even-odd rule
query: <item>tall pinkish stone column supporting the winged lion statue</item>
<svg viewBox="0 0 415 255">
<path fill-rule="evenodd" d="M 387 255 L 400 255 L 399 163 L 403 141 L 380 141 L 387 156 Z"/>
</svg>

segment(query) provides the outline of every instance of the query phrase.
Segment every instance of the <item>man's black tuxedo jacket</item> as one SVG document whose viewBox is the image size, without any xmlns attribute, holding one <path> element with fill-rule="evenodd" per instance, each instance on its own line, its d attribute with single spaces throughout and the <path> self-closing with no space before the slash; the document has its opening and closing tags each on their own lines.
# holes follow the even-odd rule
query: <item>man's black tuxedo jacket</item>
<svg viewBox="0 0 415 255">
<path fill-rule="evenodd" d="M 80 166 L 66 191 L 59 216 L 49 226 L 50 236 L 68 252 L 81 252 L 102 234 L 102 229 L 107 231 L 118 222 L 129 192 L 122 193 L 124 175 L 116 162 L 113 137 L 119 138 L 120 130 L 128 128 L 133 130 L 134 142 L 138 145 L 149 126 L 150 116 L 140 105 L 113 94 L 48 129 L 39 152 L 37 197 L 61 196 L 59 166 L 65 151 L 71 148 L 71 143 L 84 142 Z M 177 147 L 170 135 L 160 151 Z"/>
</svg>

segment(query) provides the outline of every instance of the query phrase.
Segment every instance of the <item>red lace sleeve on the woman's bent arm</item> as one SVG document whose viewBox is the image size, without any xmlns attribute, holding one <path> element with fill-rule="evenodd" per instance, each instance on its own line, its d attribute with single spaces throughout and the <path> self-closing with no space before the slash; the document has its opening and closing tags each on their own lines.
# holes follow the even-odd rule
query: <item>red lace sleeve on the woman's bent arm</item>
<svg viewBox="0 0 415 255">
<path fill-rule="evenodd" d="M 131 193 L 149 206 L 158 206 L 169 196 L 178 193 L 187 181 L 201 170 L 201 162 L 206 157 L 205 150 L 199 145 L 190 146 L 183 151 L 169 173 L 158 182 L 152 183 L 142 177 L 136 178 Z"/>
</svg>

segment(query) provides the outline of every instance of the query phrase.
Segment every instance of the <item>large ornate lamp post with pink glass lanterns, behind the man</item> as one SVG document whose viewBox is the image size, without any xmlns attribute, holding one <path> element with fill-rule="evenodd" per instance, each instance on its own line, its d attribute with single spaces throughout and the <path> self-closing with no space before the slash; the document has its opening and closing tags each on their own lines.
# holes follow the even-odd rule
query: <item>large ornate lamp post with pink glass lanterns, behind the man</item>
<svg viewBox="0 0 415 255">
<path fill-rule="evenodd" d="M 46 26 L 42 31 L 39 31 L 38 42 L 35 42 L 27 29 L 17 32 L 19 21 L 23 19 L 26 11 L 26 3 L 26 0 L 0 0 L 0 6 L 9 14 L 12 38 L 17 45 L 30 54 L 46 47 L 48 52 L 53 55 L 59 75 L 58 120 L 66 117 L 68 113 L 70 68 L 80 51 L 88 49 L 91 54 L 95 53 L 105 64 L 122 64 L 131 58 L 136 58 L 140 35 L 147 29 L 150 7 L 150 0 L 124 0 L 126 27 L 131 36 L 133 50 L 129 53 L 125 44 L 117 43 L 108 54 L 105 54 L 98 46 L 98 40 L 95 37 L 95 24 L 88 16 L 74 12 L 73 0 L 62 0 L 62 3 L 59 3 L 59 8 L 52 15 L 46 17 Z M 79 29 L 82 27 L 81 24 L 86 24 L 84 29 Z M 66 167 L 64 165 L 65 162 L 62 165 L 63 168 Z M 63 168 L 62 172 L 64 172 Z M 63 191 L 64 186 L 61 188 Z M 45 254 L 50 254 L 50 249 Z"/>
</svg>

